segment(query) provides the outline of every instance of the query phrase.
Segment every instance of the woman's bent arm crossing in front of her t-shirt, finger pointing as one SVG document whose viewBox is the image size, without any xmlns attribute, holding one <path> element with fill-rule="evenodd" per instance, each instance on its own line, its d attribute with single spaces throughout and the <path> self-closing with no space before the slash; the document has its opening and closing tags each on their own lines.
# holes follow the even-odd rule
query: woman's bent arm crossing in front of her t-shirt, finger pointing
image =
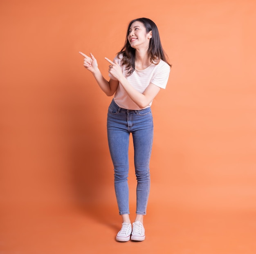
<svg viewBox="0 0 256 254">
<path fill-rule="evenodd" d="M 153 83 L 150 83 L 148 85 L 144 93 L 140 93 L 129 84 L 117 62 L 114 63 L 106 57 L 105 59 L 110 62 L 110 64 L 112 64 L 109 66 L 108 72 L 117 80 L 119 80 L 121 86 L 124 87 L 126 93 L 128 93 L 129 97 L 139 106 L 139 108 L 145 108 L 146 106 L 148 106 L 148 104 L 153 101 L 157 93 L 159 93 L 161 88 L 154 85 Z"/>
</svg>

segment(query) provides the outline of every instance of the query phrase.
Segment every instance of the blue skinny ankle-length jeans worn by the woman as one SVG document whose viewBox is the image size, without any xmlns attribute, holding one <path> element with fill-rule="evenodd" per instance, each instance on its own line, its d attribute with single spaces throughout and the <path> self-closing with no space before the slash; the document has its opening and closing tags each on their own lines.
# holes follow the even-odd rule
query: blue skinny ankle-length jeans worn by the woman
<svg viewBox="0 0 256 254">
<path fill-rule="evenodd" d="M 130 214 L 128 188 L 128 147 L 132 133 L 137 179 L 136 214 L 145 215 L 150 189 L 149 161 L 153 143 L 153 117 L 150 108 L 127 110 L 112 100 L 108 108 L 108 145 L 114 165 L 115 193 L 119 214 Z"/>
</svg>

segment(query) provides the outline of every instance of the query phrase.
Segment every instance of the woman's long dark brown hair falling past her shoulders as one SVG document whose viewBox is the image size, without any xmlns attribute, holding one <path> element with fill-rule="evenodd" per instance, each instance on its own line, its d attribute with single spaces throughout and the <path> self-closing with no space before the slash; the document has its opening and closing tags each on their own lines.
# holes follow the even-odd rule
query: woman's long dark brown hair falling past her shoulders
<svg viewBox="0 0 256 254">
<path fill-rule="evenodd" d="M 144 27 L 146 28 L 147 33 L 152 31 L 152 38 L 150 38 L 149 46 L 148 46 L 148 55 L 150 56 L 150 62 L 155 64 L 155 63 L 158 63 L 160 59 L 162 59 L 169 66 L 171 66 L 171 64 L 168 63 L 166 59 L 167 56 L 164 53 L 164 50 L 162 48 L 162 44 L 160 41 L 159 32 L 156 24 L 148 18 L 137 18 L 135 20 L 132 20 L 128 25 L 124 46 L 121 49 L 121 51 L 117 53 L 118 57 L 121 54 L 123 55 L 122 64 L 126 65 L 127 67 L 126 70 L 128 70 L 127 72 L 128 76 L 132 75 L 133 71 L 135 70 L 135 49 L 130 46 L 130 43 L 128 40 L 130 26 L 135 21 L 139 21 L 142 24 L 144 24 Z"/>
</svg>

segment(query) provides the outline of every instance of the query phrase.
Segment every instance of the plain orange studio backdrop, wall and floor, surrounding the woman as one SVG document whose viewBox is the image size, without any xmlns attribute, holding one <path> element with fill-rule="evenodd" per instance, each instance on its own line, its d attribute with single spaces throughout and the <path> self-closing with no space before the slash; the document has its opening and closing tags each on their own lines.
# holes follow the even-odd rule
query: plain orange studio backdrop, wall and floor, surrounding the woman
<svg viewBox="0 0 256 254">
<path fill-rule="evenodd" d="M 112 98 L 78 52 L 107 77 L 139 17 L 173 67 L 152 106 L 146 241 L 117 243 Z M 255 254 L 255 24 L 254 0 L 2 0 L 0 253 Z"/>
</svg>

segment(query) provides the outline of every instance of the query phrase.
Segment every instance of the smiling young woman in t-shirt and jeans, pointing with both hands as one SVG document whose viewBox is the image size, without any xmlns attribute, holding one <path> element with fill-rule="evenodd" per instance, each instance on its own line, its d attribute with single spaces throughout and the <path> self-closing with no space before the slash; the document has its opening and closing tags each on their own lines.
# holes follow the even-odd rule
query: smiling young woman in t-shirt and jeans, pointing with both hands
<svg viewBox="0 0 256 254">
<path fill-rule="evenodd" d="M 149 161 L 153 142 L 153 118 L 150 106 L 161 88 L 165 88 L 171 64 L 168 64 L 155 23 L 148 18 L 132 20 L 126 41 L 114 62 L 109 63 L 107 81 L 97 60 L 83 55 L 85 68 L 92 72 L 104 93 L 114 98 L 108 108 L 108 144 L 114 165 L 115 194 L 123 223 L 117 241 L 143 241 L 150 189 Z M 130 223 L 128 190 L 128 146 L 132 133 L 135 174 L 137 178 L 137 208 L 135 222 Z"/>
</svg>

